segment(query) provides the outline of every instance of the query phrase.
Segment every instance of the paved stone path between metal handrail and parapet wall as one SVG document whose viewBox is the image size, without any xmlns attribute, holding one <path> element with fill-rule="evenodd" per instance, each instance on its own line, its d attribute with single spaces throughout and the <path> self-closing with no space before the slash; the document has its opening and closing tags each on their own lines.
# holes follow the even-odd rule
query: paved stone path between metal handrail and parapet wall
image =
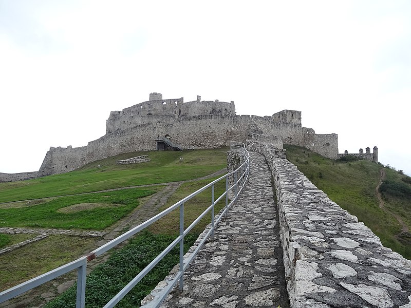
<svg viewBox="0 0 411 308">
<path fill-rule="evenodd" d="M 162 307 L 289 307 L 271 172 L 250 152 L 249 181 Z"/>
</svg>

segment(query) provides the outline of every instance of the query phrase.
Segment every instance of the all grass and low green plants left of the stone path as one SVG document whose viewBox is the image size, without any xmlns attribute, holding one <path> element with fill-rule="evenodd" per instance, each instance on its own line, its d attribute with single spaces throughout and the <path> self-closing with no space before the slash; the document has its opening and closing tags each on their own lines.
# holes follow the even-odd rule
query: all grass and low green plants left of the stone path
<svg viewBox="0 0 411 308">
<path fill-rule="evenodd" d="M 225 168 L 227 164 L 226 150 L 148 152 L 152 159 L 149 163 L 115 165 L 115 160 L 144 154 L 134 152 L 88 164 L 81 169 L 63 175 L 32 181 L 0 183 L 0 202 L 29 200 L 0 204 L 0 226 L 104 229 L 113 225 L 115 221 L 138 206 L 139 198 L 153 194 L 161 186 L 76 196 L 64 195 L 122 186 L 196 179 Z M 180 162 L 180 157 L 183 157 L 183 162 Z M 97 167 L 98 165 L 100 168 Z M 175 203 L 211 181 L 212 179 L 184 183 L 166 206 Z M 225 182 L 216 185 L 216 196 L 224 188 Z M 210 189 L 208 190 L 208 192 L 202 192 L 185 204 L 185 226 L 188 226 L 203 209 L 211 204 Z M 63 197 L 55 197 L 61 195 Z M 80 207 L 80 210 L 72 210 L 72 207 L 83 203 L 98 204 L 99 206 L 85 206 L 84 208 Z M 222 202 L 217 205 L 216 214 L 222 206 Z M 209 222 L 210 215 L 196 226 L 193 235 L 186 238 L 185 249 L 194 243 L 199 232 Z M 92 306 L 94 303 L 97 306 L 102 306 L 99 303 L 106 301 L 108 294 L 113 296 L 114 290 L 118 291 L 121 285 L 128 283 L 144 264 L 150 262 L 165 247 L 164 245 L 175 238 L 178 234 L 178 225 L 177 210 L 157 222 L 156 234 L 144 232 L 138 235 L 130 245 L 123 248 L 124 250 L 115 251 L 110 257 L 111 261 L 100 265 L 88 275 L 87 285 L 90 287 L 87 287 L 87 306 Z M 2 271 L 0 283 L 2 287 L 7 288 L 45 273 L 90 251 L 90 247 L 94 246 L 94 241 L 95 239 L 78 237 L 49 237 L 0 256 L 0 270 Z M 170 257 L 167 256 L 166 260 L 157 266 L 157 269 L 154 269 L 153 274 L 150 274 L 145 282 L 133 289 L 133 293 L 127 296 L 120 306 L 139 304 L 139 301 L 152 290 L 153 286 L 178 263 L 178 258 L 176 259 L 175 256 L 176 251 L 178 251 L 178 246 L 173 249 L 172 254 L 169 254 Z M 33 255 L 32 259 L 29 258 L 30 254 Z M 121 267 L 122 264 L 123 267 Z M 14 275 L 14 268 L 21 269 L 21 271 L 17 271 Z M 49 305 L 59 306 L 62 301 L 61 306 L 72 305 L 74 303 L 72 301 L 74 291 L 72 290 L 74 289 L 70 290 Z M 71 303 L 68 304 L 64 298 L 71 298 L 69 300 Z"/>
</svg>

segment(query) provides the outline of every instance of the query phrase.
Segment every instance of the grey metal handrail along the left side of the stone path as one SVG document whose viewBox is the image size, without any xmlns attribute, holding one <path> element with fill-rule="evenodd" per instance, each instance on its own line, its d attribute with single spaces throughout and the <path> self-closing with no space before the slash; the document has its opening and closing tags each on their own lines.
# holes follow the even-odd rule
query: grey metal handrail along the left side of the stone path
<svg viewBox="0 0 411 308">
<path fill-rule="evenodd" d="M 215 225 L 220 221 L 220 219 L 227 213 L 228 208 L 237 200 L 238 195 L 240 194 L 242 188 L 244 187 L 245 182 L 248 179 L 248 175 L 250 172 L 250 163 L 249 163 L 249 153 L 244 145 L 244 143 L 240 142 L 231 142 L 230 143 L 231 149 L 239 149 L 244 155 L 245 161 L 242 163 L 236 170 L 229 172 L 228 174 L 218 178 L 217 180 L 212 181 L 211 183 L 201 187 L 200 189 L 193 192 L 191 195 L 181 199 L 180 201 L 176 202 L 169 208 L 166 208 L 161 213 L 157 214 L 156 216 L 148 219 L 147 221 L 141 223 L 140 225 L 130 229 L 126 233 L 120 235 L 119 237 L 109 241 L 108 243 L 100 246 L 99 248 L 95 249 L 87 256 L 81 257 L 77 260 L 74 260 L 70 263 L 62 265 L 58 268 L 52 269 L 50 272 L 47 272 L 43 275 L 38 277 L 32 278 L 26 282 L 18 284 L 14 287 L 9 288 L 3 292 L 0 292 L 0 303 L 5 302 L 11 298 L 14 298 L 18 295 L 21 295 L 32 288 L 39 286 L 43 283 L 46 283 L 54 278 L 62 276 L 73 269 L 77 269 L 77 297 L 76 297 L 76 308 L 84 308 L 85 305 L 85 293 L 86 293 L 86 266 L 87 262 L 95 259 L 96 257 L 104 254 L 109 249 L 115 247 L 116 245 L 120 244 L 121 242 L 129 239 L 130 237 L 134 236 L 136 233 L 140 232 L 142 229 L 146 228 L 147 226 L 151 225 L 152 223 L 156 222 L 160 218 L 164 217 L 165 215 L 171 213 L 171 211 L 179 208 L 180 209 L 180 235 L 169 245 L 167 246 L 150 264 L 148 264 L 132 281 L 130 281 L 123 289 L 115 295 L 105 306 L 104 308 L 114 307 L 132 288 L 148 273 L 151 269 L 156 266 L 158 262 L 162 260 L 162 258 L 171 251 L 171 249 L 179 243 L 180 246 L 180 267 L 179 272 L 172 281 L 171 284 L 165 289 L 164 295 L 161 298 L 154 299 L 152 302 L 153 307 L 158 307 L 161 302 L 165 299 L 167 294 L 170 293 L 173 286 L 179 281 L 180 282 L 180 290 L 183 290 L 183 274 L 185 269 L 188 267 L 190 262 L 196 256 L 197 252 L 201 248 L 202 244 L 208 239 L 211 235 L 214 236 L 214 228 Z M 240 176 L 237 176 L 238 171 L 241 171 Z M 229 187 L 228 178 L 230 176 L 235 177 L 235 182 L 233 185 Z M 214 197 L 214 185 L 222 180 L 226 180 L 226 191 L 221 194 L 217 199 Z M 191 198 L 195 197 L 196 195 L 200 194 L 200 192 L 206 190 L 207 188 L 211 187 L 211 205 L 203 211 L 202 214 L 196 220 L 194 220 L 190 226 L 188 226 L 184 230 L 184 203 L 189 201 Z M 228 192 L 234 189 L 235 194 L 233 200 L 228 203 Z M 215 220 L 214 218 L 214 205 L 217 204 L 222 198 L 226 197 L 226 205 L 225 208 L 222 210 L 221 215 Z M 208 231 L 207 235 L 201 240 L 199 245 L 196 247 L 193 254 L 190 258 L 186 259 L 184 262 L 184 253 L 183 253 L 183 242 L 184 237 L 190 232 L 190 230 L 204 217 L 206 216 L 209 211 L 211 210 L 211 228 Z"/>
</svg>

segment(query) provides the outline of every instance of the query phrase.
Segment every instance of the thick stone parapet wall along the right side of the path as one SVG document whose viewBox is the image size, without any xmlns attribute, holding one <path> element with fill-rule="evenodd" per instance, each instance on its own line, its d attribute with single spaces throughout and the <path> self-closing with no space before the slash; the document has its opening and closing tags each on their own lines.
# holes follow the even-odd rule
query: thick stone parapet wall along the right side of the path
<svg viewBox="0 0 411 308">
<path fill-rule="evenodd" d="M 248 143 L 248 150 L 262 153 L 272 171 L 292 308 L 411 307 L 411 261 L 269 145 Z"/>
</svg>

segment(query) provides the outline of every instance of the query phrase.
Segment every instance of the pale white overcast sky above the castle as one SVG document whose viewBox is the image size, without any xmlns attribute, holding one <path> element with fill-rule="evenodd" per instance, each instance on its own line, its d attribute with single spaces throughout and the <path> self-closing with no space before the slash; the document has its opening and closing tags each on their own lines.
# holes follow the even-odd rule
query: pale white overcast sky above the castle
<svg viewBox="0 0 411 308">
<path fill-rule="evenodd" d="M 411 2 L 0 0 L 0 172 L 87 145 L 150 92 L 300 110 L 411 175 Z"/>
</svg>

